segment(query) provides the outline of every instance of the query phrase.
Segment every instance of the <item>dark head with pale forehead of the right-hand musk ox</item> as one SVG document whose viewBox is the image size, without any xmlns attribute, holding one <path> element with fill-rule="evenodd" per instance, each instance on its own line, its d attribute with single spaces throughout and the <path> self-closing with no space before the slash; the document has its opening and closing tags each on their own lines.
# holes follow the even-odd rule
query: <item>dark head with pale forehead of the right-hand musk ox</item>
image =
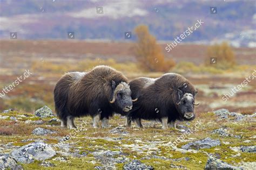
<svg viewBox="0 0 256 170">
<path fill-rule="evenodd" d="M 176 103 L 176 109 L 179 112 L 180 118 L 185 121 L 192 121 L 196 115 L 194 114 L 194 105 L 199 105 L 194 103 L 194 97 L 198 91 L 194 94 L 186 93 L 180 89 L 177 90 L 178 102 Z"/>
</svg>

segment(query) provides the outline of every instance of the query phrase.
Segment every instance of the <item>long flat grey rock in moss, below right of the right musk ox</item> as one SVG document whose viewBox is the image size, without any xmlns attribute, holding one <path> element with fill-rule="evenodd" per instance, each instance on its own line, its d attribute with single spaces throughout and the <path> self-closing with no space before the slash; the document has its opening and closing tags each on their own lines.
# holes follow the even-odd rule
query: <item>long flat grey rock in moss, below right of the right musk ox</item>
<svg viewBox="0 0 256 170">
<path fill-rule="evenodd" d="M 211 138 L 205 138 L 203 140 L 197 140 L 190 142 L 186 145 L 181 146 L 184 150 L 191 150 L 191 149 L 200 149 L 200 148 L 211 148 L 213 146 L 219 146 L 220 140 L 219 139 L 211 139 Z"/>
</svg>

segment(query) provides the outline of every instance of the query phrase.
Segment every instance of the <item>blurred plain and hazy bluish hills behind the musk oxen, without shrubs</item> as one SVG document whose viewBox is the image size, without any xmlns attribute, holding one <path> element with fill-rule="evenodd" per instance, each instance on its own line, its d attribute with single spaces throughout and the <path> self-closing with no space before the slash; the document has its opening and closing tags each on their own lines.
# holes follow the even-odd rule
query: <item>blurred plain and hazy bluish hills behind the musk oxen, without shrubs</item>
<svg viewBox="0 0 256 170">
<path fill-rule="evenodd" d="M 97 13 L 97 7 L 102 7 L 103 13 Z M 217 12 L 211 13 L 211 7 Z M 1 0 L 0 93 L 25 69 L 33 74 L 0 98 L 0 110 L 31 111 L 43 105 L 53 109 L 52 91 L 62 74 L 110 65 L 130 80 L 166 72 L 184 75 L 200 91 L 198 112 L 219 108 L 255 112 L 255 80 L 227 102 L 221 99 L 256 69 L 255 8 L 255 1 Z M 167 53 L 166 44 L 200 19 L 204 24 Z M 158 57 L 152 55 L 156 69 L 140 65 L 134 52 L 138 25 L 148 26 L 161 49 L 156 55 L 173 60 L 175 66 L 161 71 Z M 75 39 L 69 39 L 68 32 L 73 32 Z M 131 39 L 125 39 L 125 32 L 131 32 Z M 17 39 L 11 39 L 10 33 L 17 33 Z M 235 65 L 208 65 L 218 54 L 209 52 L 212 45 L 223 41 L 230 44 Z"/>
</svg>

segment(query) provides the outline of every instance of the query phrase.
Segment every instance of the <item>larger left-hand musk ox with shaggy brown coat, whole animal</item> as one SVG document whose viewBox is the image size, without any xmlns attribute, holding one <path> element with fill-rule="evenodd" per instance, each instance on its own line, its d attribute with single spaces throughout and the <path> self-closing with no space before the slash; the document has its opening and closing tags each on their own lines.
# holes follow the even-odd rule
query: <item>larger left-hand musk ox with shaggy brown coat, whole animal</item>
<svg viewBox="0 0 256 170">
<path fill-rule="evenodd" d="M 113 112 L 125 115 L 132 109 L 131 90 L 127 78 L 107 66 L 97 66 L 90 72 L 63 75 L 54 89 L 54 101 L 61 126 L 76 128 L 74 118 L 90 115 L 93 128 L 109 127 Z"/>
</svg>

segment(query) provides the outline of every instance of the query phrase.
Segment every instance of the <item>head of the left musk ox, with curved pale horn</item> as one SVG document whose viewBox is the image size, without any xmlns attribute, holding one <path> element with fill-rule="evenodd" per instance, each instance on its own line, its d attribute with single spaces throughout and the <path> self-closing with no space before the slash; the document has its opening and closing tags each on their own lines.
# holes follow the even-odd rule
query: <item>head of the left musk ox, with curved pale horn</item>
<svg viewBox="0 0 256 170">
<path fill-rule="evenodd" d="M 128 112 L 132 110 L 132 102 L 138 100 L 132 100 L 131 98 L 131 89 L 130 86 L 126 82 L 120 82 L 116 86 L 116 82 L 112 81 L 112 90 L 113 97 L 110 103 L 114 103 L 119 109 L 124 112 Z"/>
</svg>

